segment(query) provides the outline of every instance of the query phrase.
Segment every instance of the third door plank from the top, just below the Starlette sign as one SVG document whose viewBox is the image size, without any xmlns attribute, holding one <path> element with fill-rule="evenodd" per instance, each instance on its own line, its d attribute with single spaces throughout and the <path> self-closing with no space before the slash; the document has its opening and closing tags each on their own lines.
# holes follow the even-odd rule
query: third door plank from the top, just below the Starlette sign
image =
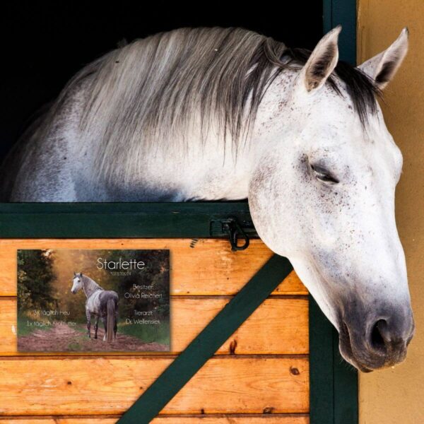
<svg viewBox="0 0 424 424">
<path fill-rule="evenodd" d="M 172 359 L 3 358 L 0 414 L 120 414 Z M 221 356 L 209 360 L 162 413 L 307 413 L 307 358 Z"/>
</svg>

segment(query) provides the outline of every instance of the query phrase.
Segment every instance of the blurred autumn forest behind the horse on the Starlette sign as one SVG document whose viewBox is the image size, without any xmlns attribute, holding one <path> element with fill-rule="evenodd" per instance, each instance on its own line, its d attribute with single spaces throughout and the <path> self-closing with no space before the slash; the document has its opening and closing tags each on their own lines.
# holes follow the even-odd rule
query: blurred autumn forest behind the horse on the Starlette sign
<svg viewBox="0 0 424 424">
<path fill-rule="evenodd" d="M 114 276 L 111 270 L 98 269 L 97 259 L 119 261 L 136 259 L 146 265 L 142 270 L 129 270 L 130 275 Z M 119 271 L 119 270 L 114 270 Z M 122 270 L 123 271 L 123 270 Z M 119 295 L 118 326 L 124 333 L 148 338 L 146 341 L 169 343 L 170 314 L 170 266 L 167 250 L 71 250 L 71 249 L 28 249 L 18 250 L 18 334 L 25 335 L 33 329 L 25 328 L 27 319 L 47 321 L 52 319 L 69 320 L 86 324 L 86 295 L 80 290 L 71 293 L 73 273 L 82 272 L 105 290 L 114 290 Z M 157 300 L 124 298 L 124 293 L 139 293 L 133 285 L 153 285 L 144 293 L 162 294 Z M 140 292 L 141 293 L 141 292 Z M 34 310 L 62 310 L 70 314 L 64 316 L 35 317 Z M 126 325 L 125 318 L 134 317 L 134 310 L 151 311 L 161 324 Z M 45 327 L 48 331 L 48 327 Z M 119 331 L 119 329 L 118 329 Z"/>
</svg>

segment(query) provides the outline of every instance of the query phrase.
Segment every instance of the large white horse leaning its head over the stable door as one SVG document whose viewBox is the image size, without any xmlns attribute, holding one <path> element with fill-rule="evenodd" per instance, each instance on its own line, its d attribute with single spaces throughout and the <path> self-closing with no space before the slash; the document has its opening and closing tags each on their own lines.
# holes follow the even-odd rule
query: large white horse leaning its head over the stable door
<svg viewBox="0 0 424 424">
<path fill-rule="evenodd" d="M 237 28 L 153 35 L 89 64 L 4 167 L 9 201 L 248 199 L 363 371 L 404 360 L 414 324 L 394 218 L 402 156 L 376 95 L 408 32 L 358 68 Z"/>
</svg>

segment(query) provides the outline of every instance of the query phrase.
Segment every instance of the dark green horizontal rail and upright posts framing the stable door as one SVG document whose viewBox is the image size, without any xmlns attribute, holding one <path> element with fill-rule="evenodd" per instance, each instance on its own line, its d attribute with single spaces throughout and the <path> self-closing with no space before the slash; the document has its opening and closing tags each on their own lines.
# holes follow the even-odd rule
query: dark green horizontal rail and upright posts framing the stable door
<svg viewBox="0 0 424 424">
<path fill-rule="evenodd" d="M 340 57 L 355 64 L 355 0 L 323 0 L 326 33 L 343 25 Z M 247 202 L 0 204 L 1 238 L 228 237 L 237 219 L 251 237 Z M 310 298 L 310 424 L 358 423 L 358 374 L 338 353 L 338 334 Z"/>
</svg>

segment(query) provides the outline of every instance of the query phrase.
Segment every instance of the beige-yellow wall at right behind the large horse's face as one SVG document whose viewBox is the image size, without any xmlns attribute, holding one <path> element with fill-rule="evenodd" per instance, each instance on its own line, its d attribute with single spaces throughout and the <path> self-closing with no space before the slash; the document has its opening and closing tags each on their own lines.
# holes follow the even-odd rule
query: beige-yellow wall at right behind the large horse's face
<svg viewBox="0 0 424 424">
<path fill-rule="evenodd" d="M 384 93 L 387 126 L 404 153 L 396 218 L 406 252 L 416 336 L 406 362 L 360 375 L 361 424 L 424 423 L 424 0 L 359 0 L 358 63 L 410 30 L 403 66 Z"/>
</svg>

